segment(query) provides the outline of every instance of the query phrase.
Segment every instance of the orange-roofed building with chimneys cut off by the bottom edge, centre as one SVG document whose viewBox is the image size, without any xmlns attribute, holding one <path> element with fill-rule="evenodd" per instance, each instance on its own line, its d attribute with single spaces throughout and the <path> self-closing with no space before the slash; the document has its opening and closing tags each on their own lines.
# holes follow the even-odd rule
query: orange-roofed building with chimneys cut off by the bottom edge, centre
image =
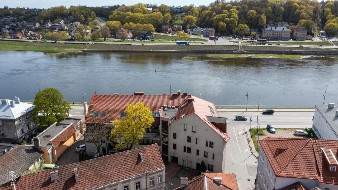
<svg viewBox="0 0 338 190">
<path fill-rule="evenodd" d="M 201 173 L 188 182 L 187 177 L 180 178 L 180 187 L 174 190 L 239 190 L 236 175 L 233 173 Z"/>
</svg>

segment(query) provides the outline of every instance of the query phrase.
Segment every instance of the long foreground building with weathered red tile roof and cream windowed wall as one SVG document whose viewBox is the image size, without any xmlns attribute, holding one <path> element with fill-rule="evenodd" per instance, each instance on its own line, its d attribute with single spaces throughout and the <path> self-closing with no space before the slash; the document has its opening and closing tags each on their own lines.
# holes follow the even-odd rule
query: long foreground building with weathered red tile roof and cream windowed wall
<svg viewBox="0 0 338 190">
<path fill-rule="evenodd" d="M 20 183 L 6 183 L 0 190 L 164 190 L 165 184 L 165 166 L 153 144 L 24 175 Z"/>
</svg>

